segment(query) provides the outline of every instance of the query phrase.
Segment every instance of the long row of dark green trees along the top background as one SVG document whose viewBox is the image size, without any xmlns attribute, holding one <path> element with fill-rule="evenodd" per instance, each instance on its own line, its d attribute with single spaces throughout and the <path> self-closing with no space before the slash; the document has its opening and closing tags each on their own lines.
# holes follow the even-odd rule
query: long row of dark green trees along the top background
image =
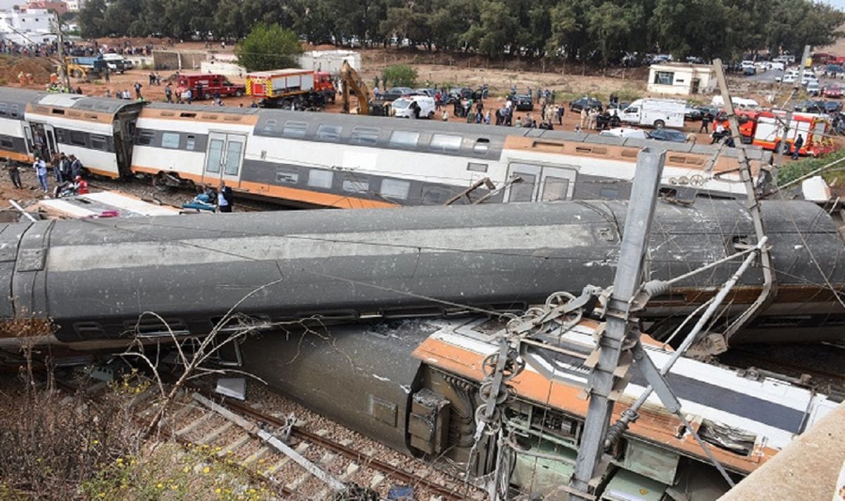
<svg viewBox="0 0 845 501">
<path fill-rule="evenodd" d="M 86 38 L 241 39 L 278 24 L 313 44 L 401 45 L 487 57 L 619 63 L 628 52 L 733 59 L 800 54 L 842 35 L 813 0 L 88 0 Z"/>
</svg>

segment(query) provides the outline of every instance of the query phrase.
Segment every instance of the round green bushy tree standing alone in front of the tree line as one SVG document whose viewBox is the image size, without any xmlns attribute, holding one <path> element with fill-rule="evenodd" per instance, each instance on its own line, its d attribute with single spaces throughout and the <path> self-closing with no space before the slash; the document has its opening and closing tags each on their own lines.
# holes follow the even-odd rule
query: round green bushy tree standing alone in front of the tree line
<svg viewBox="0 0 845 501">
<path fill-rule="evenodd" d="M 297 68 L 297 56 L 303 53 L 297 34 L 280 25 L 253 26 L 243 41 L 235 46 L 237 63 L 248 71 L 273 68 Z"/>
</svg>

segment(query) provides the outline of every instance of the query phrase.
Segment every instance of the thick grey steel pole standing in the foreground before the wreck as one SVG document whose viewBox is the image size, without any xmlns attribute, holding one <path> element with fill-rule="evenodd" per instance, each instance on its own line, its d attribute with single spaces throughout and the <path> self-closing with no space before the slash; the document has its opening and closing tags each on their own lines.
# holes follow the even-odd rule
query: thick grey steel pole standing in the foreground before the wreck
<svg viewBox="0 0 845 501">
<path fill-rule="evenodd" d="M 648 148 L 637 157 L 636 177 L 613 280 L 613 295 L 608 301 L 607 325 L 597 340 L 596 351 L 586 362 L 588 366 L 592 363 L 586 389 L 590 402 L 575 460 L 575 472 L 570 479 L 569 492 L 573 500 L 594 499 L 591 489 L 596 486 L 592 480 L 605 468 L 601 460 L 613 414 L 614 392 L 620 391 L 617 388 L 620 381 L 626 382 L 624 377 L 619 376 L 619 369 L 630 365 L 630 347 L 633 345 L 629 335 L 633 334 L 636 338 L 637 332 L 629 319 L 631 302 L 642 282 L 643 261 L 665 161 L 665 152 L 657 153 Z M 594 359 L 595 362 L 591 362 Z M 624 361 L 621 367 L 620 361 Z"/>
</svg>

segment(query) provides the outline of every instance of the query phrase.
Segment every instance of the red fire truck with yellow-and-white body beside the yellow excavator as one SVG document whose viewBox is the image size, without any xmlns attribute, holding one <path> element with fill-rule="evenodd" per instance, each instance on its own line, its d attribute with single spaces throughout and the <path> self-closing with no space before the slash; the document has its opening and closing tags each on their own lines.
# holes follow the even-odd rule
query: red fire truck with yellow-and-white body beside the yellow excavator
<svg viewBox="0 0 845 501">
<path fill-rule="evenodd" d="M 324 71 L 273 69 L 247 75 L 247 95 L 267 108 L 320 109 L 335 102 L 335 85 Z"/>
</svg>

